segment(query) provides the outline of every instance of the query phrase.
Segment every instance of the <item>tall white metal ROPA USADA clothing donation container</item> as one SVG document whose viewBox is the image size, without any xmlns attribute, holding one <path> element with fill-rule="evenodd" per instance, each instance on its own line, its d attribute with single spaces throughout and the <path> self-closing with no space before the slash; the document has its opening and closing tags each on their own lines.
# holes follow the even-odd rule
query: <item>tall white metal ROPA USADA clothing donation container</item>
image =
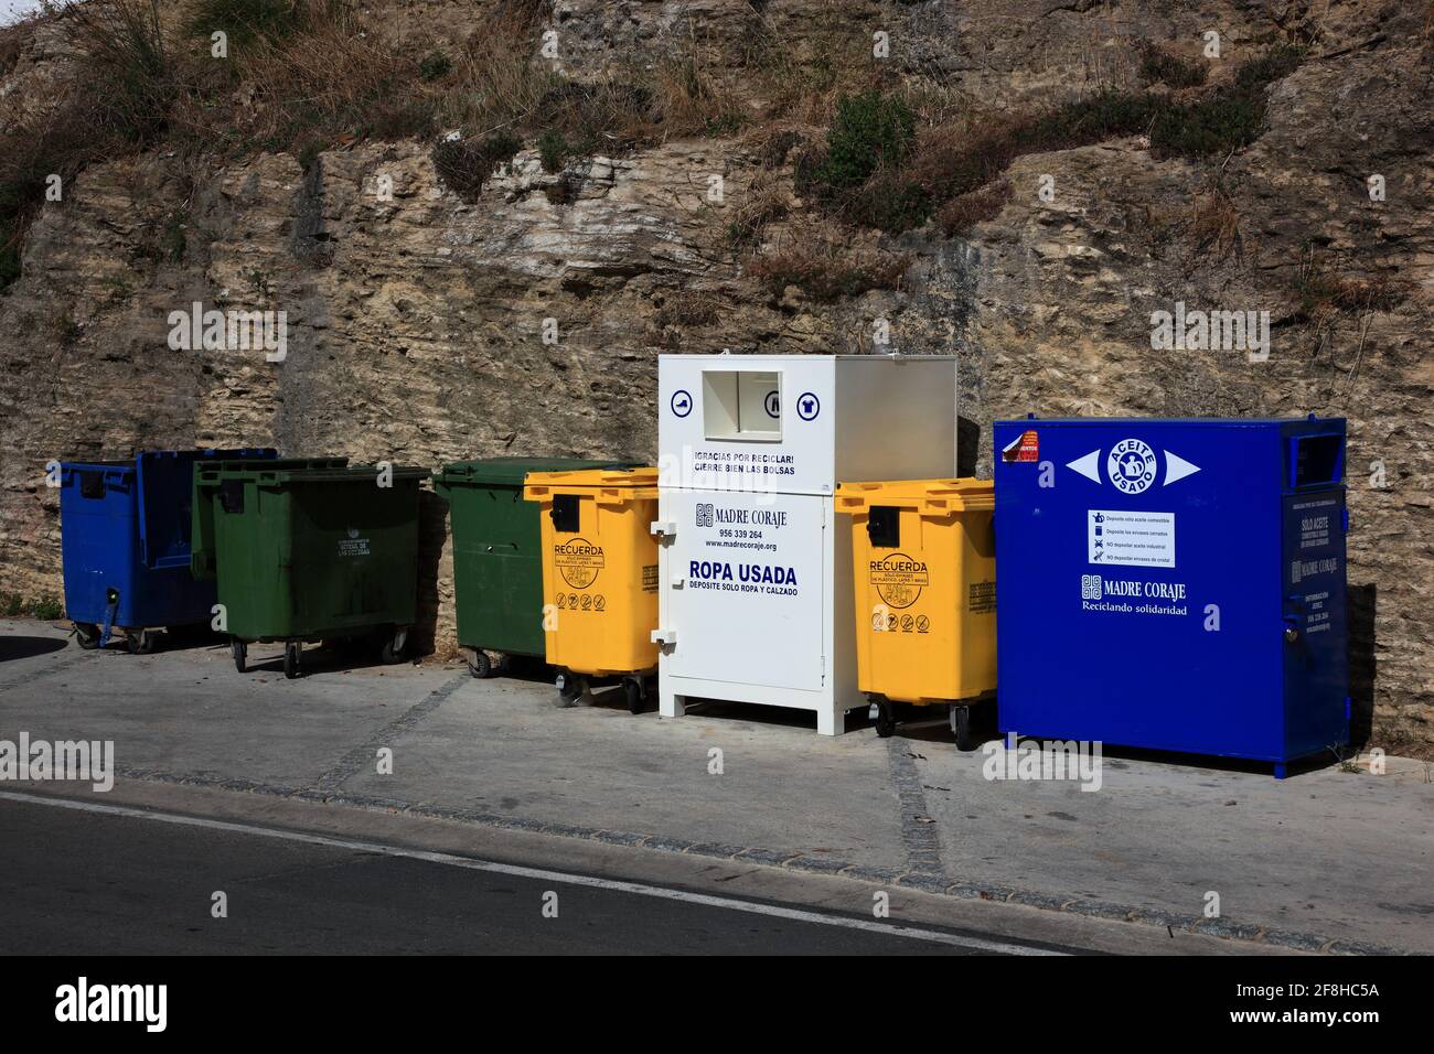
<svg viewBox="0 0 1434 1054">
<path fill-rule="evenodd" d="M 856 687 L 840 480 L 956 475 L 956 361 L 936 356 L 658 359 L 660 711 L 730 700 L 816 711 Z"/>
</svg>

